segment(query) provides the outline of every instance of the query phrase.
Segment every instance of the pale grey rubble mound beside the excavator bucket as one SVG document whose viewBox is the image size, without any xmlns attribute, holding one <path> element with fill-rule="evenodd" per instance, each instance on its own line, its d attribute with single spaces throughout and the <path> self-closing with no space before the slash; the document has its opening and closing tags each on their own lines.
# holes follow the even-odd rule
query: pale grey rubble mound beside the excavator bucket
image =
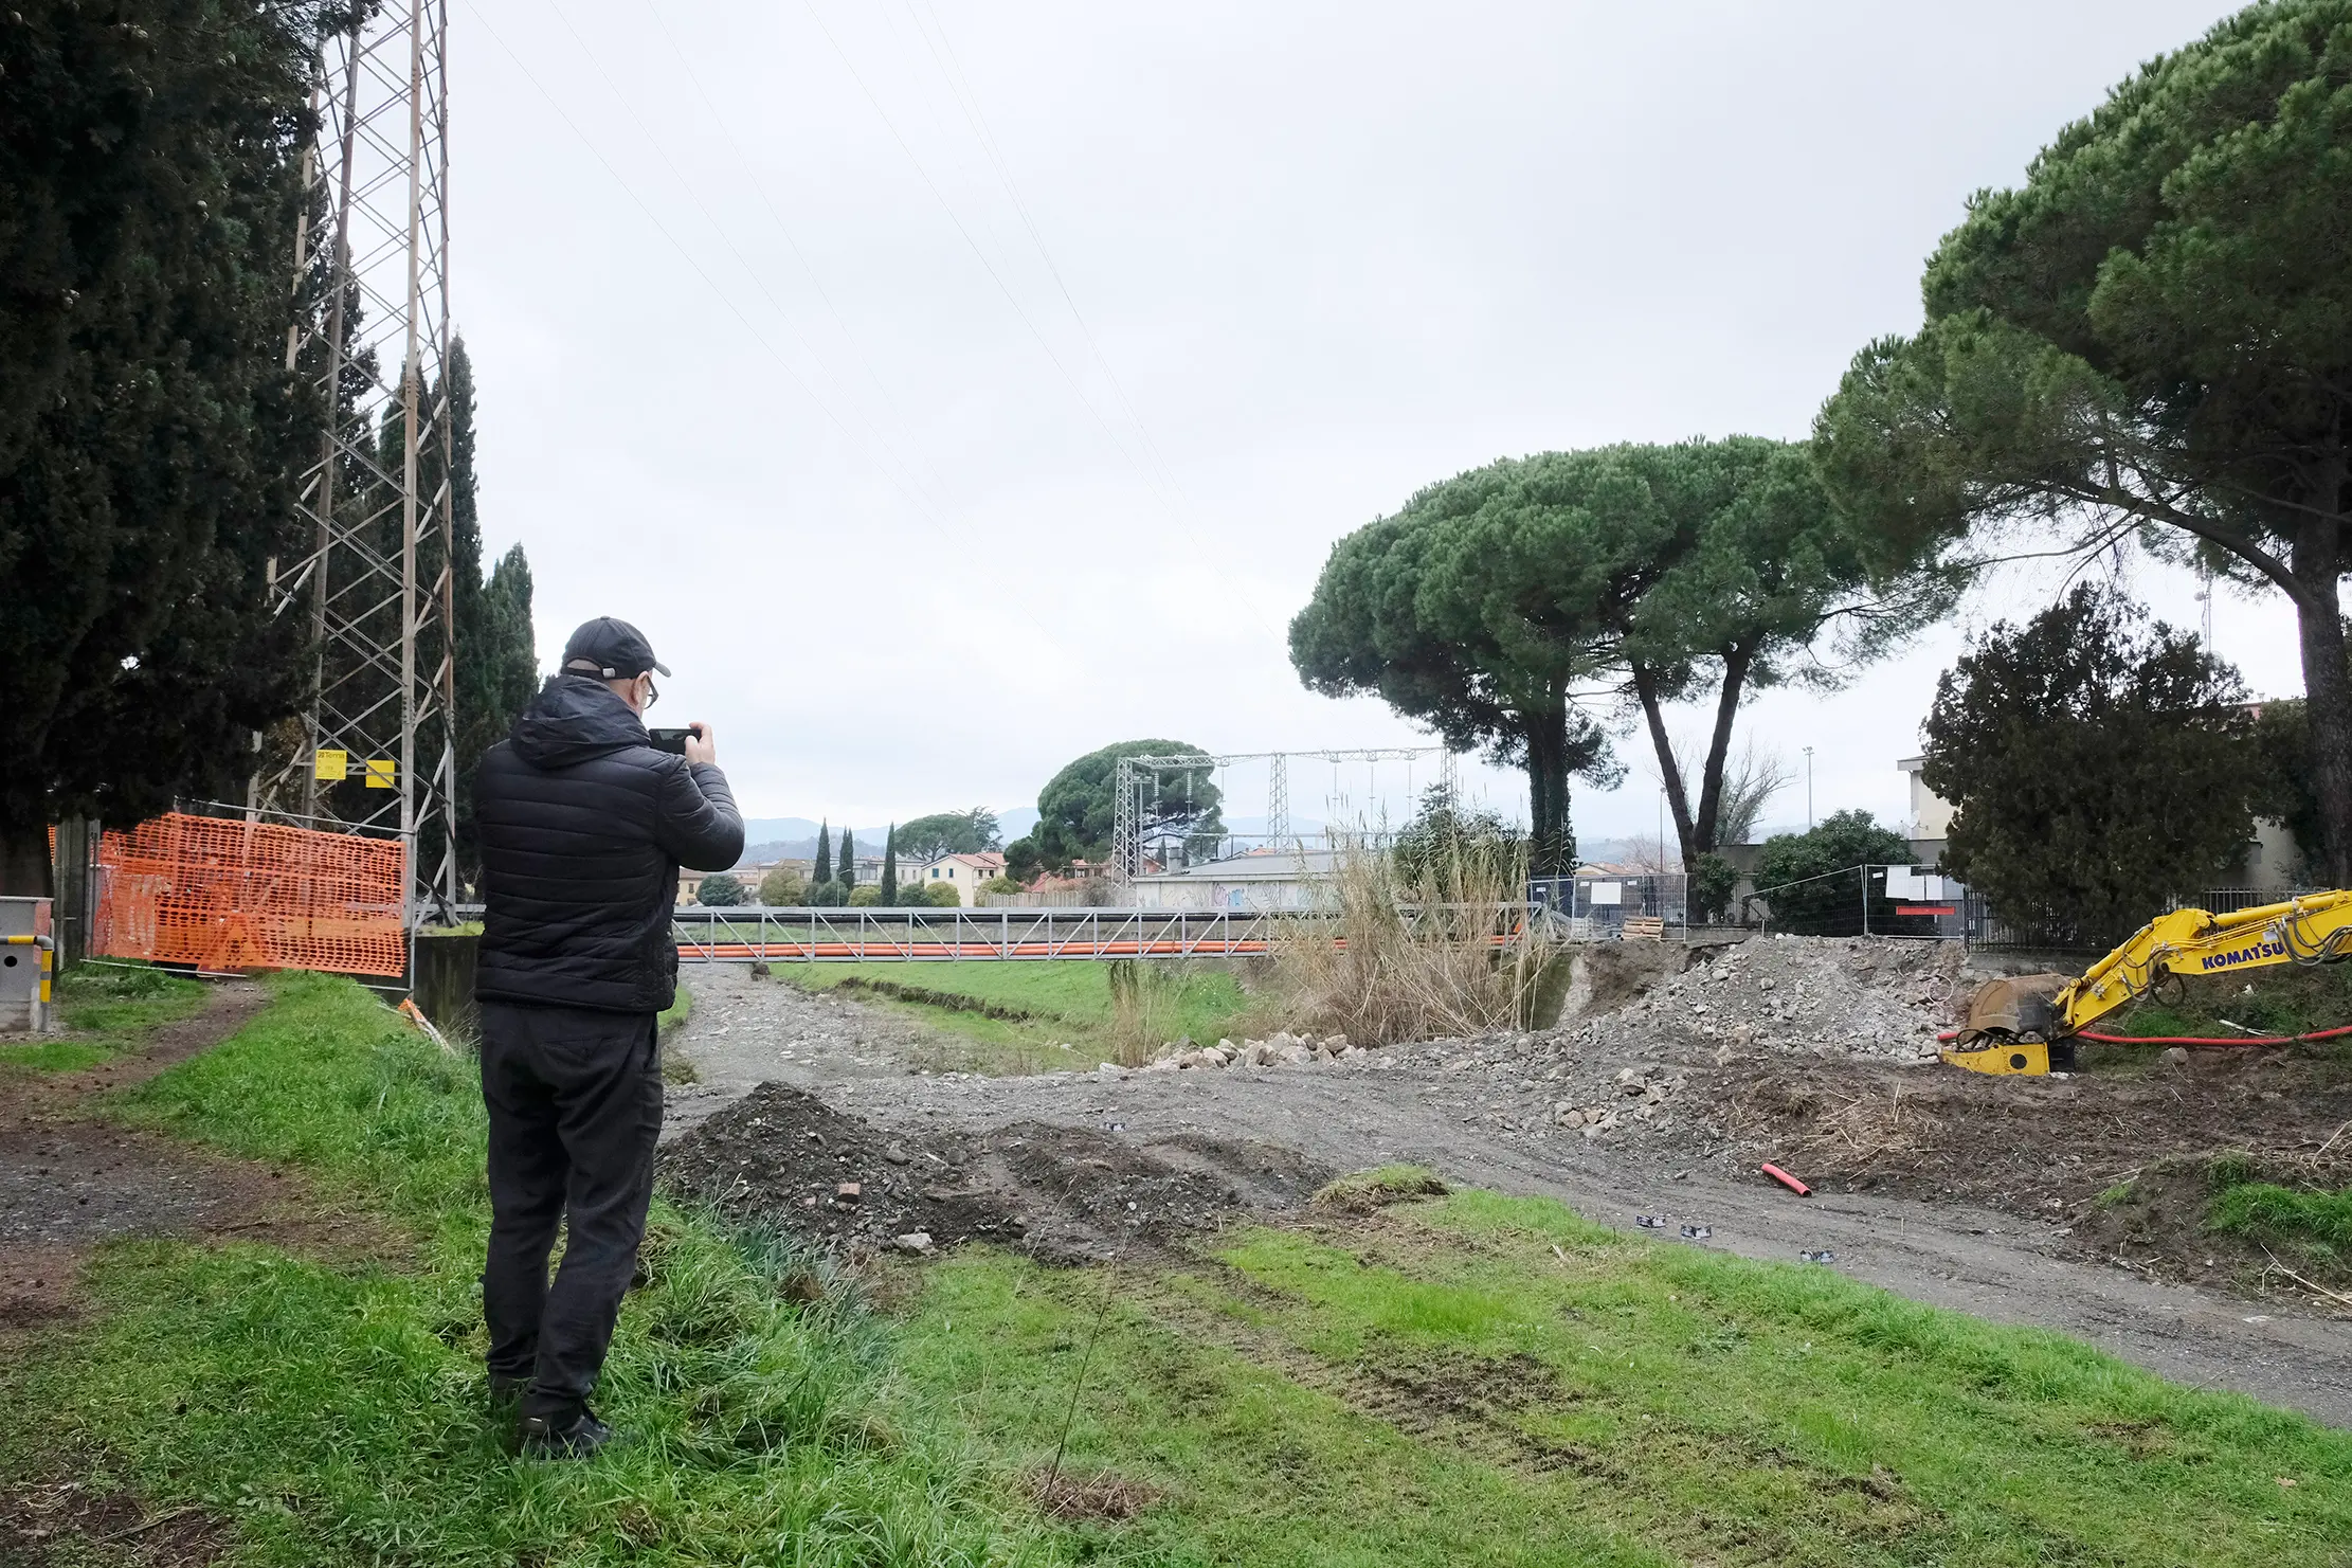
<svg viewBox="0 0 2352 1568">
<path fill-rule="evenodd" d="M 1588 1039 L 1646 1037 L 1722 1060 L 1766 1051 L 1842 1051 L 1891 1060 L 1936 1056 L 1936 1032 L 1966 1001 L 1959 943 L 1771 936 L 1693 952 Z"/>
</svg>

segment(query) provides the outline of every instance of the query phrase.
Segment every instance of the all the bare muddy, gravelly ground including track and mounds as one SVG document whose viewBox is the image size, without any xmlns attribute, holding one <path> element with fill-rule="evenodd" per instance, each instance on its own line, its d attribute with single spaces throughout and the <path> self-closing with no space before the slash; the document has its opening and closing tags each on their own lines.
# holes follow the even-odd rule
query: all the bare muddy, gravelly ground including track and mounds
<svg viewBox="0 0 2352 1568">
<path fill-rule="evenodd" d="M 1973 976 L 1896 947 L 1823 943 L 1792 954 L 1804 999 L 1788 1009 L 1778 983 L 1759 985 L 1771 973 L 1762 947 L 1736 971 L 1696 976 L 1665 950 L 1581 978 L 1564 1023 L 1536 1034 L 1324 1065 L 1021 1079 L 931 1072 L 922 1044 L 901 1048 L 889 1070 L 877 1034 L 854 1034 L 837 1065 L 802 1023 L 809 999 L 788 983 L 689 971 L 699 994 L 710 985 L 727 997 L 722 1046 L 703 1041 L 701 1004 L 675 1041 L 699 1070 L 706 1056 L 722 1063 L 729 1081 L 713 1093 L 706 1074 L 689 1091 L 696 1110 L 748 1093 L 736 1084 L 762 1060 L 802 1093 L 677 1138 L 663 1168 L 684 1192 L 811 1239 L 891 1246 L 936 1225 L 934 1246 L 1011 1234 L 1044 1255 L 1089 1258 L 1279 1213 L 1327 1171 L 1418 1161 L 1454 1180 L 1550 1194 L 1628 1229 L 1656 1220 L 1677 1237 L 1703 1225 L 1705 1246 L 1752 1258 L 1830 1253 L 1830 1267 L 1915 1300 L 2060 1328 L 2180 1382 L 2352 1425 L 2352 1316 L 2321 1298 L 2253 1300 L 2246 1291 L 2267 1291 L 2265 1279 L 2204 1272 L 2201 1255 L 2183 1267 L 2194 1239 L 2176 1239 L 2164 1267 L 2126 1246 L 2119 1267 L 2105 1211 L 2093 1211 L 2124 1173 L 2164 1157 L 2216 1143 L 2307 1150 L 2352 1117 L 2345 1107 L 2328 1121 L 2333 1084 L 2352 1074 L 2253 1053 L 2152 1077 L 1990 1079 L 1922 1065 L 1922 1025 L 1933 1044 L 1933 1025 L 1950 1020 Z M 1773 997 L 1771 1011 L 1795 1013 L 1795 1027 L 1757 1027 L 1752 1011 L 1722 1006 L 1726 987 Z M 856 1011 L 828 999 L 816 1023 L 844 1037 Z M 1804 1027 L 1844 1016 L 1875 1030 L 1860 1056 L 1804 1041 Z M 910 1025 L 889 1018 L 889 1027 Z M 906 1166 L 889 1159 L 891 1145 Z M 1762 1159 L 1795 1168 L 1816 1197 L 1762 1178 Z M 851 1166 L 856 1175 L 842 1175 Z M 1181 1218 L 1155 1211 L 1129 1225 L 1120 1204 L 1134 1194 L 1122 1187 L 1167 1182 L 1155 1166 L 1192 1178 L 1181 1182 L 1190 1197 L 1169 1204 Z M 1296 1182 L 1270 1185 L 1254 1166 Z M 835 1208 L 837 1182 L 863 1190 L 868 1171 L 882 1201 L 868 1213 L 861 1192 L 854 1213 Z M 953 1180 L 924 1180 L 943 1171 Z M 1134 1201 L 1143 1215 L 1145 1199 Z M 981 1220 L 997 1229 L 978 1232 Z"/>
</svg>

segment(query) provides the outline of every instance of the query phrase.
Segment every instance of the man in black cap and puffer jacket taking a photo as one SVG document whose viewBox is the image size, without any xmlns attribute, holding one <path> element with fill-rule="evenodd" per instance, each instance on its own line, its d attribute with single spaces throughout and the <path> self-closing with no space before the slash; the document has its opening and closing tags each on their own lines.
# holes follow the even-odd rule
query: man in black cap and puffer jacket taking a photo
<svg viewBox="0 0 2352 1568">
<path fill-rule="evenodd" d="M 572 632 L 564 663 L 482 755 L 482 1100 L 489 1105 L 489 1389 L 520 1401 L 522 1450 L 590 1455 L 588 1410 L 637 1267 L 661 1133 L 656 1013 L 677 994 L 677 867 L 727 870 L 743 818 L 708 724 L 684 755 L 642 715 L 668 675 L 612 616 Z M 548 1284 L 557 1222 L 562 1267 Z"/>
</svg>

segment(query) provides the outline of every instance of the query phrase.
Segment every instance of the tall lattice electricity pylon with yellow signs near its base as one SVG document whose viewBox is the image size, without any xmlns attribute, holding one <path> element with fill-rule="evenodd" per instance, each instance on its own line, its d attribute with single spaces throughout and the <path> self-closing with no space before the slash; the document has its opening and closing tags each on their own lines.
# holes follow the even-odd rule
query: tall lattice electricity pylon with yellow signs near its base
<svg viewBox="0 0 2352 1568">
<path fill-rule="evenodd" d="M 318 308 L 287 369 L 327 428 L 301 480 L 310 552 L 270 576 L 318 670 L 249 797 L 256 818 L 397 832 L 409 926 L 456 898 L 447 40 L 447 0 L 379 0 L 320 45 L 294 256 Z"/>
</svg>

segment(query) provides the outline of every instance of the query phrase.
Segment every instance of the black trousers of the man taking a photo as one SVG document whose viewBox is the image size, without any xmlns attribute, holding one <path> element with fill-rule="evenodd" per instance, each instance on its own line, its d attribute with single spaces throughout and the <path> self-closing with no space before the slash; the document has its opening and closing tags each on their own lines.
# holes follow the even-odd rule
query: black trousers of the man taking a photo
<svg viewBox="0 0 2352 1568">
<path fill-rule="evenodd" d="M 529 1380 L 524 1415 L 567 1415 L 595 1389 L 637 1267 L 661 1135 L 652 1013 L 482 1004 L 489 1105 L 489 1375 Z M 557 1220 L 564 1260 L 548 1286 Z"/>
</svg>

